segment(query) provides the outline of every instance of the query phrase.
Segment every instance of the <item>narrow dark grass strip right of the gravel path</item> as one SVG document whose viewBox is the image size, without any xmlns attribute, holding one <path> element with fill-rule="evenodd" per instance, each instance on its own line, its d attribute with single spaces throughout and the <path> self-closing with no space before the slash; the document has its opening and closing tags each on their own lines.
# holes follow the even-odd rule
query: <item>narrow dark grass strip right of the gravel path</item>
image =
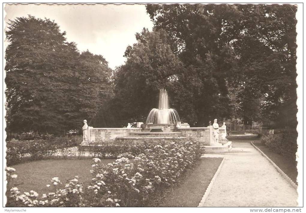
<svg viewBox="0 0 306 213">
<path fill-rule="evenodd" d="M 266 154 L 280 169 L 286 173 L 293 182 L 297 183 L 297 165 L 296 161 L 277 154 L 270 150 L 267 146 L 264 146 L 259 141 L 253 142 L 264 154 Z"/>
</svg>

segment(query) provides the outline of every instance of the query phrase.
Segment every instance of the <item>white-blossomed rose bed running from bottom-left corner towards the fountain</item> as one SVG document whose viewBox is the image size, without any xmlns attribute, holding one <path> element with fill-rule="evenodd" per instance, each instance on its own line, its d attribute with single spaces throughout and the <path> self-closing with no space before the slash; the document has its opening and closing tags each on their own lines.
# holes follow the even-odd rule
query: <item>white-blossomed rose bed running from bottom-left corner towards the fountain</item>
<svg viewBox="0 0 306 213">
<path fill-rule="evenodd" d="M 63 188 L 58 177 L 54 177 L 47 184 L 52 192 L 43 194 L 41 198 L 34 191 L 21 193 L 17 187 L 11 188 L 7 206 L 145 206 L 155 192 L 175 184 L 186 169 L 195 165 L 204 151 L 203 144 L 192 140 L 175 140 L 172 143 L 151 141 L 132 161 L 118 156 L 115 162 L 100 165 L 101 160 L 93 158 L 90 169 L 92 180 L 88 186 L 80 184 L 76 176 Z"/>
</svg>

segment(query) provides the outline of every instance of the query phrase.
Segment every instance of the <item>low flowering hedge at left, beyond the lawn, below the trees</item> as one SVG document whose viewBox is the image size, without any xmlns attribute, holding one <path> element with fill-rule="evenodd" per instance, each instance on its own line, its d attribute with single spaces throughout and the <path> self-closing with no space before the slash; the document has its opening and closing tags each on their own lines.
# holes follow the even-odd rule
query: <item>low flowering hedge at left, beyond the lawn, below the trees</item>
<svg viewBox="0 0 306 213">
<path fill-rule="evenodd" d="M 53 156 L 56 150 L 77 146 L 81 141 L 81 136 L 54 137 L 47 140 L 11 140 L 6 143 L 6 165 L 15 165 Z"/>
</svg>

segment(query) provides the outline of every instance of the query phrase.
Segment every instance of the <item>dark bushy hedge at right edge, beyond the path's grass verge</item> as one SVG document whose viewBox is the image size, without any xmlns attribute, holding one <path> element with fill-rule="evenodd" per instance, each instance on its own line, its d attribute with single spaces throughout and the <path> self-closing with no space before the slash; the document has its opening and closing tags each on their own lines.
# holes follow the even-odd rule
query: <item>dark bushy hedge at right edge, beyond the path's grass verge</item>
<svg viewBox="0 0 306 213">
<path fill-rule="evenodd" d="M 280 155 L 296 159 L 297 132 L 281 131 L 274 135 L 264 135 L 261 143 Z"/>
</svg>

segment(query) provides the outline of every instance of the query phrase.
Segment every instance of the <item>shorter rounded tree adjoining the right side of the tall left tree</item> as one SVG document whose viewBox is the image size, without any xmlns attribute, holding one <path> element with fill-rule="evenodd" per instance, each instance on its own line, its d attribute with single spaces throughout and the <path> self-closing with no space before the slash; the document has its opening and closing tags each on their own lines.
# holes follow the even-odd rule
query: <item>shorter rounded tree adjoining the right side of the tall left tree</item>
<svg viewBox="0 0 306 213">
<path fill-rule="evenodd" d="M 107 127 L 114 123 L 109 113 L 109 102 L 113 98 L 112 71 L 102 55 L 81 53 L 78 72 L 82 80 L 74 86 L 77 95 L 71 103 L 78 106 L 74 112 L 83 112 L 82 116 L 88 118 L 92 126 Z"/>
</svg>

